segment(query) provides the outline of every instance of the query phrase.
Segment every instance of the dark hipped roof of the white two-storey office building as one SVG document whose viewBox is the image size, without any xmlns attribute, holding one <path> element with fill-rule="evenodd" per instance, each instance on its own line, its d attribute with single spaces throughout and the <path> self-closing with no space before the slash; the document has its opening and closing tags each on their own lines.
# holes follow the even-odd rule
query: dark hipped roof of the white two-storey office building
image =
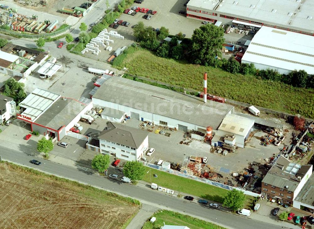
<svg viewBox="0 0 314 229">
<path fill-rule="evenodd" d="M 108 122 L 106 128 L 99 134 L 98 139 L 138 149 L 147 136 L 148 134 L 143 130 L 128 127 L 120 123 Z"/>
</svg>

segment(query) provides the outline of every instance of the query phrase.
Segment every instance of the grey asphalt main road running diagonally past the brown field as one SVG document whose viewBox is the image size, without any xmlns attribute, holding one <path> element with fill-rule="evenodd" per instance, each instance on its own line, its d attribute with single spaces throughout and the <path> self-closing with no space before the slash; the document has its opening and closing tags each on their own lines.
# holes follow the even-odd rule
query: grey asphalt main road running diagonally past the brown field
<svg viewBox="0 0 314 229">
<path fill-rule="evenodd" d="M 83 183 L 91 184 L 106 190 L 123 194 L 124 196 L 132 196 L 140 200 L 144 204 L 155 206 L 160 209 L 175 210 L 181 213 L 197 216 L 206 221 L 212 221 L 218 225 L 225 226 L 227 228 L 241 228 L 241 229 L 279 229 L 288 228 L 273 225 L 267 222 L 248 219 L 240 215 L 233 215 L 219 210 L 214 210 L 199 204 L 190 203 L 189 201 L 171 197 L 167 194 L 162 194 L 150 188 L 133 186 L 130 184 L 120 183 L 113 180 L 109 180 L 104 177 L 100 177 L 97 174 L 85 172 L 82 169 L 76 169 L 70 166 L 57 164 L 51 161 L 42 161 L 43 164 L 35 166 L 30 164 L 30 160 L 34 159 L 33 156 L 27 155 L 23 152 L 15 151 L 12 149 L 0 146 L 0 155 L 3 159 L 13 161 L 22 165 L 30 167 L 40 168 L 43 171 L 50 172 L 62 177 L 77 180 Z M 291 228 L 299 228 L 293 227 Z"/>
</svg>

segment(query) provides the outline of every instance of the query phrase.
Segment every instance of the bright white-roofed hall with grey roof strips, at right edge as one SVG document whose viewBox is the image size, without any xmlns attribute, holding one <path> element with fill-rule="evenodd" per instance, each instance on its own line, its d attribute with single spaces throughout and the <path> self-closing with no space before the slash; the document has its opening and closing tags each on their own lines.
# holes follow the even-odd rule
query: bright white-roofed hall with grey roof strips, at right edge
<svg viewBox="0 0 314 229">
<path fill-rule="evenodd" d="M 191 0 L 192 1 L 192 0 Z M 314 36 L 263 26 L 253 37 L 241 63 L 280 74 L 305 70 L 314 74 Z"/>
</svg>

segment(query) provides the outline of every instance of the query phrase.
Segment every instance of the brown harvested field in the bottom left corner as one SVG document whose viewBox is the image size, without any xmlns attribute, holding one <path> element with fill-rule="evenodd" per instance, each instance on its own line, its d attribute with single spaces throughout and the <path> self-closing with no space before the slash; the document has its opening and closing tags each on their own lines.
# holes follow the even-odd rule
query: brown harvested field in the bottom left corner
<svg viewBox="0 0 314 229">
<path fill-rule="evenodd" d="M 0 163 L 0 228 L 121 228 L 138 211 L 103 190 Z"/>
</svg>

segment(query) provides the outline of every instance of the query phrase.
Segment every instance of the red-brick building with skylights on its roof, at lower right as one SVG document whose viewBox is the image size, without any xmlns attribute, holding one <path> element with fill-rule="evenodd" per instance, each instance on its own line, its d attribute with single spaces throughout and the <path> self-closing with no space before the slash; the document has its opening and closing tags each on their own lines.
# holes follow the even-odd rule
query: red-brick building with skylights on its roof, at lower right
<svg viewBox="0 0 314 229">
<path fill-rule="evenodd" d="M 299 165 L 279 156 L 262 181 L 262 196 L 276 202 L 293 204 L 312 174 L 312 165 Z"/>
</svg>

